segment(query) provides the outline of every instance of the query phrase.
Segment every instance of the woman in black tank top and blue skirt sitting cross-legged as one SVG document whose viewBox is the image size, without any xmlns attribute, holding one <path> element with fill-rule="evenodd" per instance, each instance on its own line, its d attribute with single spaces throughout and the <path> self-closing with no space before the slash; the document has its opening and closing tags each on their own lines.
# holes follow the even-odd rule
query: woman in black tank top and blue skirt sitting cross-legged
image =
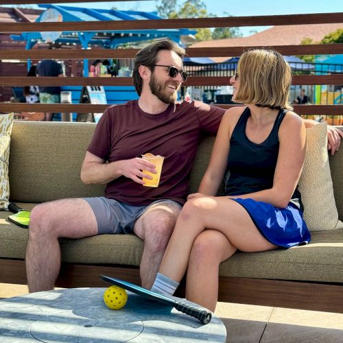
<svg viewBox="0 0 343 343">
<path fill-rule="evenodd" d="M 199 193 L 183 207 L 152 290 L 173 294 L 187 266 L 187 299 L 212 311 L 220 262 L 237 250 L 258 252 L 307 244 L 296 189 L 306 152 L 303 121 L 288 102 L 291 71 L 279 53 L 242 54 Z M 224 196 L 216 197 L 230 172 Z"/>
</svg>

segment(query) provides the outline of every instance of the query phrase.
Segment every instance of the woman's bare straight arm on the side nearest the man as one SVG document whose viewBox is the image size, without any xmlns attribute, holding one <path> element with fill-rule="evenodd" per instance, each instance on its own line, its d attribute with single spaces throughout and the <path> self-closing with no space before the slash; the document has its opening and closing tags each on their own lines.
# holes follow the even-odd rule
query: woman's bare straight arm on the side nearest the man
<svg viewBox="0 0 343 343">
<path fill-rule="evenodd" d="M 230 108 L 224 114 L 217 137 L 215 138 L 209 166 L 200 182 L 199 193 L 206 194 L 207 196 L 215 196 L 217 193 L 228 163 L 230 128 L 233 121 L 237 118 L 237 113 L 241 112 L 241 108 Z"/>
</svg>

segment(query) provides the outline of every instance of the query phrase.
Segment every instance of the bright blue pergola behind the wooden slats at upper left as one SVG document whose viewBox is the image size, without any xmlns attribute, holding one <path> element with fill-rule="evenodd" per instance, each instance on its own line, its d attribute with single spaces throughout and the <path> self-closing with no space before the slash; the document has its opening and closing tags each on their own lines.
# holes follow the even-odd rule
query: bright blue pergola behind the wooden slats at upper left
<svg viewBox="0 0 343 343">
<path fill-rule="evenodd" d="M 40 14 L 36 22 L 46 21 L 47 13 L 58 14 L 63 22 L 68 21 L 134 21 L 134 20 L 151 20 L 162 19 L 155 12 L 141 11 L 119 11 L 119 10 L 98 10 L 90 8 L 78 8 L 60 5 L 39 5 L 46 10 Z M 56 12 L 57 11 L 57 12 Z M 40 32 L 23 32 L 23 34 L 12 35 L 13 40 L 25 40 L 25 49 L 32 49 L 36 43 L 46 40 L 43 36 L 47 33 Z M 137 43 L 152 39 L 169 38 L 182 45 L 182 37 L 189 37 L 196 34 L 195 30 L 189 29 L 141 29 L 126 31 L 105 31 L 105 32 L 70 32 L 64 31 L 56 39 L 53 38 L 54 32 L 51 33 L 54 43 L 73 44 L 80 43 L 83 49 L 89 49 L 91 45 L 101 45 L 105 49 L 115 49 L 119 45 L 126 43 Z M 31 65 L 31 60 L 27 60 L 27 67 Z M 84 76 L 88 76 L 88 60 L 84 60 Z"/>
</svg>

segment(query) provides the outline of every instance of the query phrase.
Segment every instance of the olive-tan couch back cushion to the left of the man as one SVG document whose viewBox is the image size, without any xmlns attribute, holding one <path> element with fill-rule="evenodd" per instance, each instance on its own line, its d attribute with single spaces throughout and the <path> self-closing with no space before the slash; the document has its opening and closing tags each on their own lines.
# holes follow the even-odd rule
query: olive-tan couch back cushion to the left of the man
<svg viewBox="0 0 343 343">
<path fill-rule="evenodd" d="M 10 200 L 45 202 L 104 195 L 84 185 L 80 170 L 95 123 L 14 121 L 10 143 Z"/>
</svg>

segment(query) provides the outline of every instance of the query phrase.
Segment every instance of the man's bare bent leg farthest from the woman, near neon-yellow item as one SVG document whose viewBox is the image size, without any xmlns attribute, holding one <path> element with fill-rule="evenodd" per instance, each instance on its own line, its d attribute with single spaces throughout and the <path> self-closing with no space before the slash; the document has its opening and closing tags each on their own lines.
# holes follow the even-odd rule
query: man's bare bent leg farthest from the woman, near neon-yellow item
<svg viewBox="0 0 343 343">
<path fill-rule="evenodd" d="M 30 217 L 25 257 L 29 292 L 54 289 L 60 272 L 58 238 L 94 235 L 97 235 L 97 221 L 85 200 L 63 199 L 36 206 Z"/>
</svg>

